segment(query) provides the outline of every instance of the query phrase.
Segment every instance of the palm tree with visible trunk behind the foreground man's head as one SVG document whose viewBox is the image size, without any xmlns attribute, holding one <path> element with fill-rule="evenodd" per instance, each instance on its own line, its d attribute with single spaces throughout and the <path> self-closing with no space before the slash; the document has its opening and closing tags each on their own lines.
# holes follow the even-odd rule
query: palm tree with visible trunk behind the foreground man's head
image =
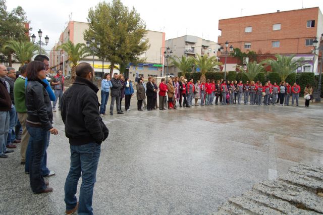
<svg viewBox="0 0 323 215">
<path fill-rule="evenodd" d="M 72 81 L 74 82 L 76 76 L 76 65 L 82 60 L 82 58 L 86 57 L 89 49 L 86 47 L 84 43 L 77 43 L 76 45 L 72 41 L 67 41 L 66 43 L 57 47 L 57 49 L 63 49 L 68 54 L 68 60 L 72 62 Z"/>
</svg>

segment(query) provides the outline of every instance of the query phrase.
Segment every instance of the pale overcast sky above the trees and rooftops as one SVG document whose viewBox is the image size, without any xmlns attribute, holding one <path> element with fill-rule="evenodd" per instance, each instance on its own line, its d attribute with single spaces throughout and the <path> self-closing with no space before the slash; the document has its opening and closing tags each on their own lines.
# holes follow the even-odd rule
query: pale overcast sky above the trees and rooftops
<svg viewBox="0 0 323 215">
<path fill-rule="evenodd" d="M 59 39 L 69 20 L 86 22 L 88 9 L 95 7 L 99 0 L 52 0 L 33 2 L 27 0 L 7 0 L 8 10 L 21 6 L 30 21 L 30 32 L 37 35 L 39 29 L 43 37 L 48 35 L 50 49 Z M 106 1 L 111 2 L 111 1 Z M 128 8 L 134 7 L 146 22 L 148 30 L 166 32 L 166 39 L 195 35 L 218 40 L 219 19 L 273 13 L 277 10 L 288 11 L 319 7 L 323 10 L 322 0 L 122 0 Z M 42 9 L 41 7 L 42 6 Z M 71 18 L 70 18 L 71 16 Z M 37 39 L 38 41 L 38 39 Z"/>
</svg>

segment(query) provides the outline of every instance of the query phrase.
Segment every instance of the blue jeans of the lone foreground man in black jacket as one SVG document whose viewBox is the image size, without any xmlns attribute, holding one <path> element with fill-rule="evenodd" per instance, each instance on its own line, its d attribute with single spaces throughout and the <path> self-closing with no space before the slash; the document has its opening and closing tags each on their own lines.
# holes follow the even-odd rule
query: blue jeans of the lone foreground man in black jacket
<svg viewBox="0 0 323 215">
<path fill-rule="evenodd" d="M 64 201 L 66 209 L 73 209 L 77 204 L 75 194 L 82 173 L 78 214 L 93 214 L 93 188 L 96 182 L 96 169 L 99 162 L 101 145 L 88 143 L 84 145 L 70 145 L 70 148 L 71 167 L 65 182 Z"/>
</svg>

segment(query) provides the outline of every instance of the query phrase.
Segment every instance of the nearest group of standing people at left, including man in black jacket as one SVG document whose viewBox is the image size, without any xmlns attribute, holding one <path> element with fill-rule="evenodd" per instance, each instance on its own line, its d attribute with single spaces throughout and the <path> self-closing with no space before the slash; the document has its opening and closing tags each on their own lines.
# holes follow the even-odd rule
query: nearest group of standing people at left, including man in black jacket
<svg viewBox="0 0 323 215">
<path fill-rule="evenodd" d="M 58 109 L 71 150 L 70 171 L 65 183 L 65 213 L 78 210 L 79 214 L 92 214 L 100 144 L 109 135 L 99 116 L 105 109 L 99 110 L 98 88 L 92 83 L 93 68 L 80 63 L 76 67 L 75 82 L 65 93 L 62 71 L 50 78 L 48 69 L 49 58 L 45 55 L 38 55 L 34 61 L 20 67 L 19 74 L 14 68 L 0 65 L 0 158 L 8 158 L 20 143 L 20 164 L 24 165 L 25 174 L 29 174 L 32 192 L 52 192 L 44 177 L 56 174 L 47 168 L 47 148 L 50 134 L 59 132 L 53 127 L 53 112 L 59 100 Z M 117 83 L 114 84 L 117 87 Z M 102 88 L 108 92 L 106 101 L 110 86 L 111 82 L 107 82 Z M 118 104 L 120 107 L 121 100 L 117 99 Z M 81 176 L 77 200 L 75 194 Z"/>
</svg>

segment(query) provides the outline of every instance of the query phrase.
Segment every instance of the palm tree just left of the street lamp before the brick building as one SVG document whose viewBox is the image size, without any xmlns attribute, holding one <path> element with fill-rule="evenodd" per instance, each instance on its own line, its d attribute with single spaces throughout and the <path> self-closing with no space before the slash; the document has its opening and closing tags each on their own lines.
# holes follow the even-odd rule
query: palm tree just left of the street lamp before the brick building
<svg viewBox="0 0 323 215">
<path fill-rule="evenodd" d="M 201 71 L 200 81 L 206 81 L 205 73 L 213 69 L 213 67 L 217 65 L 221 65 L 218 62 L 216 56 L 208 57 L 207 55 L 197 55 L 197 58 L 191 57 L 196 67 L 198 67 Z"/>
</svg>

